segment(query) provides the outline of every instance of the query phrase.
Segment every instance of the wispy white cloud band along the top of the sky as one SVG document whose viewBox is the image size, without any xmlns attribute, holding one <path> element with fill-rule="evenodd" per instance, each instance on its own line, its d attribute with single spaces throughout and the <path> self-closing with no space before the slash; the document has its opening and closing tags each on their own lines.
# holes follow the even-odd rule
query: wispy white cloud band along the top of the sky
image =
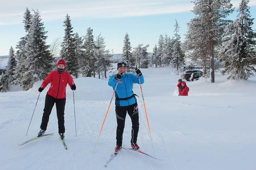
<svg viewBox="0 0 256 170">
<path fill-rule="evenodd" d="M 12 0 L 0 7 L 0 25 L 17 24 L 23 20 L 25 8 L 38 9 L 43 21 L 72 18 L 120 18 L 148 15 L 173 14 L 192 10 L 189 0 Z M 237 7 L 240 0 L 232 1 Z M 14 4 L 12 6 L 11 4 Z M 250 6 L 255 6 L 252 1 Z"/>
</svg>

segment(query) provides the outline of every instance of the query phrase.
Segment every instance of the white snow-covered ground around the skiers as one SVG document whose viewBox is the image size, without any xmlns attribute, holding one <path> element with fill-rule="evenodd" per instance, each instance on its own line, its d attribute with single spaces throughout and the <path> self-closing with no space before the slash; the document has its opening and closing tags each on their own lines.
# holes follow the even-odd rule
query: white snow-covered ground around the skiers
<svg viewBox="0 0 256 170">
<path fill-rule="evenodd" d="M 205 79 L 187 82 L 189 96 L 177 96 L 179 77 L 170 67 L 142 69 L 145 83 L 144 99 L 152 132 L 148 134 L 139 85 L 141 150 L 163 159 L 154 160 L 143 154 L 121 150 L 107 169 L 115 170 L 255 170 L 256 158 L 256 77 L 248 81 L 227 81 L 216 74 L 216 83 Z M 23 146 L 39 131 L 44 98 L 49 86 L 41 93 L 28 135 L 38 87 L 29 91 L 0 93 L 0 169 L 1 170 L 102 170 L 116 144 L 114 102 L 110 107 L 98 145 L 94 146 L 113 90 L 106 80 L 75 79 L 75 136 L 73 93 L 67 88 L 65 109 L 64 150 L 58 136 L 55 107 L 50 115 L 47 133 Z M 123 146 L 130 146 L 131 121 L 126 117 Z"/>
</svg>

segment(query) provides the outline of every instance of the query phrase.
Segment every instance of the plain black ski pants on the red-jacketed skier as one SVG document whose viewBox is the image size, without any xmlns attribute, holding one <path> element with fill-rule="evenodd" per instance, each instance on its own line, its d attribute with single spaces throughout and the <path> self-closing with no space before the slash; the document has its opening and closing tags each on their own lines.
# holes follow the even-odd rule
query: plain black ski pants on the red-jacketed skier
<svg viewBox="0 0 256 170">
<path fill-rule="evenodd" d="M 56 99 L 48 94 L 46 94 L 46 97 L 45 97 L 44 114 L 42 117 L 42 123 L 41 123 L 40 128 L 43 130 L 46 130 L 47 124 L 49 121 L 49 116 L 51 114 L 52 107 L 54 106 L 54 103 L 56 103 L 59 133 L 65 133 L 64 110 L 65 110 L 66 98 Z"/>
</svg>

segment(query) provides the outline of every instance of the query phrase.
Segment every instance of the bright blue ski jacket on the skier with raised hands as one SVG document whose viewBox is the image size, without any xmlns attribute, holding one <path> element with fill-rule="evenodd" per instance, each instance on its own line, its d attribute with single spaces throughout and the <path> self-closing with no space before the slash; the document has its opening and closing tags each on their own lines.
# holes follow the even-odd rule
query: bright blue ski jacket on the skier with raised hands
<svg viewBox="0 0 256 170">
<path fill-rule="evenodd" d="M 116 87 L 116 83 L 118 80 L 115 79 L 116 75 L 112 75 L 108 80 L 108 85 L 113 87 L 113 89 Z M 139 84 L 139 78 L 137 75 L 133 73 L 125 73 L 122 75 L 122 79 L 119 80 L 118 85 L 116 87 L 116 98 L 127 98 L 132 95 L 134 95 L 132 89 L 133 89 L 133 83 Z M 140 83 L 144 83 L 144 77 L 143 75 L 140 76 Z M 116 106 L 130 106 L 136 103 L 137 100 L 134 97 L 128 99 L 128 100 L 117 100 L 115 101 Z"/>
</svg>

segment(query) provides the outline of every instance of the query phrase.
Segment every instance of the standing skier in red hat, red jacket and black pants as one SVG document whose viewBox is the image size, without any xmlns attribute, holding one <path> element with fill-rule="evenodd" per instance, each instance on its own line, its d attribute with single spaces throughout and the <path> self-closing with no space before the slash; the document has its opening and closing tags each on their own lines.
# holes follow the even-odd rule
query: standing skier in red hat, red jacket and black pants
<svg viewBox="0 0 256 170">
<path fill-rule="evenodd" d="M 64 126 L 64 110 L 66 104 L 66 87 L 67 84 L 72 90 L 76 90 L 76 84 L 73 81 L 70 73 L 65 71 L 66 63 L 64 59 L 60 59 L 57 63 L 57 70 L 50 72 L 50 74 L 44 79 L 41 87 L 38 91 L 42 92 L 44 88 L 51 83 L 49 90 L 47 91 L 44 104 L 44 113 L 42 117 L 42 123 L 38 136 L 42 136 L 47 128 L 49 116 L 52 111 L 54 103 L 56 104 L 58 128 L 60 138 L 64 138 L 65 126 Z"/>
</svg>

